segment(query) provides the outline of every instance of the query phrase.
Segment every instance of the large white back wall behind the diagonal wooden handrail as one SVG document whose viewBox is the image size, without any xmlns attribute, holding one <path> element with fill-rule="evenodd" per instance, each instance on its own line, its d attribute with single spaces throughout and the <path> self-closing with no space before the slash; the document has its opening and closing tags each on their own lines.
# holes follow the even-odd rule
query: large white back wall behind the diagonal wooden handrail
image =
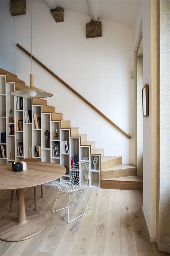
<svg viewBox="0 0 170 256">
<path fill-rule="evenodd" d="M 2 67 L 29 84 L 30 58 L 15 44 L 30 50 L 30 1 L 27 14 L 10 15 L 8 1 L 3 9 Z M 132 136 L 124 137 L 88 105 L 56 79 L 33 63 L 34 84 L 52 92 L 48 104 L 71 120 L 72 127 L 88 134 L 105 155 L 123 156 L 133 163 L 133 30 L 102 21 L 102 37 L 86 39 L 85 23 L 90 17 L 64 12 L 56 23 L 46 5 L 33 2 L 33 55 L 82 94 L 108 118 Z"/>
</svg>

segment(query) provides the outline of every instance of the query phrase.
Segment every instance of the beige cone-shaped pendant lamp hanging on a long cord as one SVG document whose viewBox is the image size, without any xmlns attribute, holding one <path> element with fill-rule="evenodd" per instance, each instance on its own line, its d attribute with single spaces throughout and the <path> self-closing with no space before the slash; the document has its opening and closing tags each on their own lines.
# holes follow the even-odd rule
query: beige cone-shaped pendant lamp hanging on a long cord
<svg viewBox="0 0 170 256">
<path fill-rule="evenodd" d="M 31 0 L 31 74 L 30 74 L 30 86 L 23 87 L 22 89 L 10 92 L 11 95 L 28 98 L 47 98 L 53 96 L 52 93 L 43 91 L 37 87 L 34 87 L 34 75 L 32 74 L 32 0 Z"/>
</svg>

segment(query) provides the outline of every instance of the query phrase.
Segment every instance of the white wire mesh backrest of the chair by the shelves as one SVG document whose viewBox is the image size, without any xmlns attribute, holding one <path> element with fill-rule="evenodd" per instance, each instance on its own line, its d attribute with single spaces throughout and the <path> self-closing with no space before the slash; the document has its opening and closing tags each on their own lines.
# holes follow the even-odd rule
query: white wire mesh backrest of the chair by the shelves
<svg viewBox="0 0 170 256">
<path fill-rule="evenodd" d="M 90 165 L 86 162 L 79 162 L 72 164 L 71 180 L 73 184 L 86 186 L 89 180 Z"/>
</svg>

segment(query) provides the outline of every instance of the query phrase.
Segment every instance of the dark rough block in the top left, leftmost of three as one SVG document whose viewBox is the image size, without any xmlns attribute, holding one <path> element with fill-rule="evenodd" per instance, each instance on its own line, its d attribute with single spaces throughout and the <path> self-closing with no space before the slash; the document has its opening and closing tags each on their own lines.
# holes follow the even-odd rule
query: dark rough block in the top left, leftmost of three
<svg viewBox="0 0 170 256">
<path fill-rule="evenodd" d="M 12 16 L 26 14 L 26 0 L 10 0 L 9 4 Z"/>
</svg>

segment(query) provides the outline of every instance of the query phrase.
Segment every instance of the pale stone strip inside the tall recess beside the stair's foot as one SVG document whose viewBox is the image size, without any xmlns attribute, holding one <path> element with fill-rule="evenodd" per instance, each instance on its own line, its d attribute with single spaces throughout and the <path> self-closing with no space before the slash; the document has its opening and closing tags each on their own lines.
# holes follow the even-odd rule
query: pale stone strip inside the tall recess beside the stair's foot
<svg viewBox="0 0 170 256">
<path fill-rule="evenodd" d="M 143 175 L 143 56 L 137 57 L 137 175 Z"/>
</svg>

